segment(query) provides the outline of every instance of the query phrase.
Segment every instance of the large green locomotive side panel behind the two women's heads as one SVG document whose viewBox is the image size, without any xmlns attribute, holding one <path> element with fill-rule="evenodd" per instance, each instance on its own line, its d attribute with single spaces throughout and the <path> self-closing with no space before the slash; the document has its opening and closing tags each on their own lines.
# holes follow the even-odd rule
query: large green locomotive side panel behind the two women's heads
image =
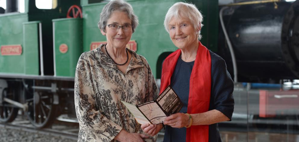
<svg viewBox="0 0 299 142">
<path fill-rule="evenodd" d="M 83 51 L 90 50 L 91 42 L 106 41 L 97 27 L 99 14 L 108 2 L 88 4 L 83 2 Z M 165 52 L 173 52 L 177 48 L 164 29 L 164 18 L 168 8 L 179 0 L 128 0 L 135 14 L 139 17 L 139 26 L 131 40 L 137 42 L 137 53 L 143 55 L 149 62 L 153 75 L 159 76 L 160 65 Z M 218 37 L 218 0 L 188 1 L 197 5 L 204 16 L 201 42 L 207 48 L 215 51 Z M 208 16 L 207 16 L 208 15 Z M 159 60 L 158 60 L 159 59 Z"/>
</svg>

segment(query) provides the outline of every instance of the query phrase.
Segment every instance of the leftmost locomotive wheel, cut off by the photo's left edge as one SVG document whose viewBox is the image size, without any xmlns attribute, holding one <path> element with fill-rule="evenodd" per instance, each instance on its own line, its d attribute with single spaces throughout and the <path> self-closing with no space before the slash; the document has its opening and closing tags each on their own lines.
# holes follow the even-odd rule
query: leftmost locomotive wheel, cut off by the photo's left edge
<svg viewBox="0 0 299 142">
<path fill-rule="evenodd" d="M 8 98 L 11 100 L 17 100 L 17 95 L 13 89 L 4 89 L 2 92 L 2 99 Z M 10 103 L 2 100 L 0 102 L 0 122 L 12 122 L 17 117 L 18 108 Z"/>
</svg>

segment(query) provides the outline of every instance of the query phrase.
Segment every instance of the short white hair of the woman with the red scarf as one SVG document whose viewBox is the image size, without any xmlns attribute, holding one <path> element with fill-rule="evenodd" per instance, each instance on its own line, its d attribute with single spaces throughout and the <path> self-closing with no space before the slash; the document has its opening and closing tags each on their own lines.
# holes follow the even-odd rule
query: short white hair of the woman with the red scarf
<svg viewBox="0 0 299 142">
<path fill-rule="evenodd" d="M 164 27 L 166 31 L 169 33 L 168 24 L 172 18 L 182 17 L 189 18 L 194 26 L 194 29 L 200 29 L 201 27 L 203 27 L 203 15 L 194 4 L 177 2 L 169 8 L 165 16 Z M 199 31 L 198 40 L 200 40 L 201 38 L 202 36 L 200 35 Z"/>
</svg>

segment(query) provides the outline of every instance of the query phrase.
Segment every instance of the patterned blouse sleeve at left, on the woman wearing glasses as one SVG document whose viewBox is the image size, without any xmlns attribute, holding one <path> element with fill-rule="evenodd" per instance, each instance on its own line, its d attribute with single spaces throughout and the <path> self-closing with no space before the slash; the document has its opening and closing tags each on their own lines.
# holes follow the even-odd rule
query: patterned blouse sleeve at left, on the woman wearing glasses
<svg viewBox="0 0 299 142">
<path fill-rule="evenodd" d="M 78 142 L 112 141 L 122 127 L 96 109 L 93 76 L 86 53 L 80 56 L 75 73 L 75 109 L 80 124 Z"/>
</svg>

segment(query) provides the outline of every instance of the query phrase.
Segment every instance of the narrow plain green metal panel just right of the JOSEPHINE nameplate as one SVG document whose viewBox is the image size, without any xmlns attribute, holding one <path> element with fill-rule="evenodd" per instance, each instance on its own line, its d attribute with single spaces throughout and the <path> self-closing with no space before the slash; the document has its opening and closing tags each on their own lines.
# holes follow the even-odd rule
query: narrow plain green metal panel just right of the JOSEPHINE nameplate
<svg viewBox="0 0 299 142">
<path fill-rule="evenodd" d="M 23 23 L 24 67 L 26 75 L 39 75 L 39 23 Z"/>
</svg>

